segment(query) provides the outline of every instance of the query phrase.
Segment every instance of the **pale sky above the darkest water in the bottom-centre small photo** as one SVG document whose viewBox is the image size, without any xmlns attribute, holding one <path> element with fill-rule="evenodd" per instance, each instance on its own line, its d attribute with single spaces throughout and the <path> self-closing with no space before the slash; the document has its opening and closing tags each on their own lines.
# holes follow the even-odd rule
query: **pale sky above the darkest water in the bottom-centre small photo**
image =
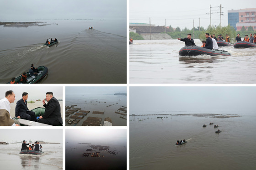
<svg viewBox="0 0 256 170">
<path fill-rule="evenodd" d="M 126 129 L 66 129 L 66 142 L 126 144 Z"/>
</svg>

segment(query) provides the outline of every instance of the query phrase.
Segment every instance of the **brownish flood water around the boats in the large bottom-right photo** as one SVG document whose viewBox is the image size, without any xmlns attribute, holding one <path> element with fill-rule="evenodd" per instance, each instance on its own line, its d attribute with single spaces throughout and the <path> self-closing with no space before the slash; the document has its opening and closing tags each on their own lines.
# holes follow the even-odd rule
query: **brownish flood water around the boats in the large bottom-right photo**
<svg viewBox="0 0 256 170">
<path fill-rule="evenodd" d="M 255 112 L 225 112 L 225 114 L 241 114 L 242 117 L 161 115 L 160 117 L 163 117 L 161 119 L 156 118 L 157 116 L 134 118 L 130 116 L 130 170 L 254 169 L 256 167 Z M 213 128 L 213 125 L 209 125 L 210 122 L 213 122 L 213 125 L 218 124 L 219 128 Z M 203 128 L 203 124 L 208 126 Z M 216 134 L 217 129 L 222 132 Z M 177 139 L 186 139 L 187 143 L 175 146 Z"/>
</svg>

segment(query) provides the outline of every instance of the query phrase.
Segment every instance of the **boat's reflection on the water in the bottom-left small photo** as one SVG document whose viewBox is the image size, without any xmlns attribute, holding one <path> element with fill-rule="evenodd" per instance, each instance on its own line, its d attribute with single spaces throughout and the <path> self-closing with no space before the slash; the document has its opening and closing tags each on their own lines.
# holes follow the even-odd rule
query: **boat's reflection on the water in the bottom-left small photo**
<svg viewBox="0 0 256 170">
<path fill-rule="evenodd" d="M 22 168 L 26 169 L 26 167 L 29 167 L 34 170 L 39 170 L 40 156 L 41 155 L 37 155 L 37 156 L 20 155 Z"/>
</svg>

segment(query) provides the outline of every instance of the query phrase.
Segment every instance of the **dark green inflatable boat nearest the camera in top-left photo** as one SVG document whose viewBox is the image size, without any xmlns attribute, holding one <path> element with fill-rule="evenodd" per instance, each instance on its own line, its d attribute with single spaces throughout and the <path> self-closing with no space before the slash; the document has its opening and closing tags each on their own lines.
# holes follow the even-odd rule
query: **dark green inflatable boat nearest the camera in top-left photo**
<svg viewBox="0 0 256 170">
<path fill-rule="evenodd" d="M 25 84 L 34 84 L 37 83 L 39 80 L 41 80 L 43 77 L 45 77 L 48 73 L 48 68 L 44 67 L 44 66 L 39 66 L 37 67 L 37 70 L 39 71 L 37 73 L 37 76 L 30 76 L 29 72 L 26 72 L 27 75 L 27 82 Z M 18 84 L 21 84 L 21 75 L 15 78 L 15 82 L 17 82 Z M 10 84 L 10 82 L 7 82 L 7 84 Z"/>
</svg>

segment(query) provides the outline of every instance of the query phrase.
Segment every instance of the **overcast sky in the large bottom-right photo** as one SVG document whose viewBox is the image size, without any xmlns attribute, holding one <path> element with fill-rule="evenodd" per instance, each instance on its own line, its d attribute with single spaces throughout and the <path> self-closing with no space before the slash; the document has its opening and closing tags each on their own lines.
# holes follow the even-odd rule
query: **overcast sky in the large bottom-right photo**
<svg viewBox="0 0 256 170">
<path fill-rule="evenodd" d="M 256 111 L 255 101 L 256 87 L 130 87 L 131 113 Z"/>
</svg>

